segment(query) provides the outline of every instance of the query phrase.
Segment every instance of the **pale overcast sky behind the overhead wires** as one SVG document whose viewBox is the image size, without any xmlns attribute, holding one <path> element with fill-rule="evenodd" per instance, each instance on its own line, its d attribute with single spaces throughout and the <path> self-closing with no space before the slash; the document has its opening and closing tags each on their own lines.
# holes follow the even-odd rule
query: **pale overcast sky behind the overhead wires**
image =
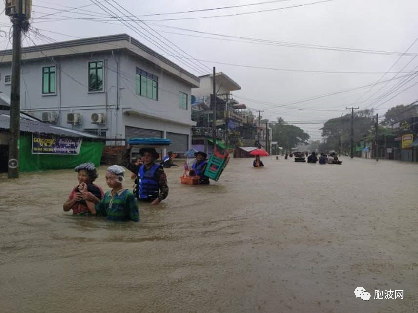
<svg viewBox="0 0 418 313">
<path fill-rule="evenodd" d="M 252 109 L 264 110 L 262 113 L 263 117 L 271 120 L 275 120 L 281 116 L 289 122 L 321 122 L 349 112 L 345 110 L 345 107 L 351 107 L 352 105 L 355 107 L 359 106 L 360 109 L 370 108 L 372 106 L 377 107 L 378 110 L 375 112 L 383 115 L 386 112 L 386 108 L 397 104 L 411 103 L 418 99 L 418 85 L 416 85 L 418 77 L 401 77 L 387 84 L 381 83 L 391 78 L 398 78 L 408 74 L 411 75 L 412 71 L 418 69 L 418 67 L 415 69 L 418 66 L 418 57 L 414 58 L 413 55 L 413 53 L 418 53 L 418 42 L 408 50 L 409 55 L 403 55 L 401 57 L 402 53 L 406 52 L 418 38 L 417 0 L 334 0 L 326 2 L 320 0 L 283 0 L 280 2 L 274 1 L 273 3 L 221 10 L 153 16 L 143 15 L 236 6 L 267 2 L 267 0 L 116 0 L 116 2 L 133 15 L 141 15 L 139 17 L 141 20 L 148 20 L 146 23 L 149 26 L 194 58 L 205 60 L 205 62 L 201 62 L 203 65 L 200 66 L 202 68 L 200 71 L 197 71 L 196 67 L 187 67 L 187 65 L 180 63 L 179 60 L 168 56 L 168 52 L 161 50 L 161 45 L 155 46 L 147 38 L 141 37 L 134 30 L 123 26 L 115 20 L 108 20 L 108 22 L 111 22 L 109 24 L 99 22 L 97 19 L 95 21 L 37 19 L 42 15 L 51 13 L 56 14 L 43 18 L 96 18 L 99 15 L 103 16 L 105 14 L 104 11 L 92 4 L 90 0 L 33 0 L 32 2 L 34 5 L 32 26 L 41 29 L 40 33 L 42 35 L 64 41 L 74 38 L 48 31 L 59 32 L 74 37 L 95 37 L 127 33 L 198 76 L 203 74 L 203 70 L 208 74 L 210 69 L 216 66 L 217 72 L 224 72 L 242 87 L 240 91 L 233 92 L 235 99 L 241 103 L 245 103 Z M 309 4 L 314 2 L 322 3 Z M 100 0 L 100 3 L 105 4 L 108 8 L 116 12 L 116 9 L 110 5 L 113 4 L 117 7 L 112 0 Z M 80 10 L 59 12 L 56 10 L 69 9 L 63 6 L 85 6 L 81 9 L 93 12 Z M 291 6 L 294 7 L 286 8 Z M 184 19 L 231 15 L 278 8 L 284 9 L 227 17 Z M 84 14 L 75 14 L 73 12 Z M 118 13 L 118 15 L 121 14 Z M 176 18 L 183 19 L 155 20 Z M 153 21 L 150 21 L 151 19 Z M 6 32 L 8 36 L 10 28 L 8 25 L 10 25 L 10 22 L 8 17 L 4 16 L 4 13 L 0 17 L 0 22 L 0 30 Z M 221 35 L 303 44 L 309 45 L 310 47 L 317 45 L 395 52 L 398 54 L 298 48 L 278 45 L 277 43 L 266 44 L 265 42 L 264 44 L 256 44 L 254 41 L 249 42 L 246 39 L 219 37 L 157 25 L 168 25 Z M 140 29 L 138 25 L 136 27 Z M 185 35 L 172 34 L 173 32 Z M 5 33 L 1 33 L 0 35 L 4 36 Z M 37 38 L 33 33 L 29 33 L 28 36 L 37 44 L 46 43 L 44 41 L 45 38 Z M 216 37 L 218 39 L 194 36 Z M 233 39 L 234 41 L 229 39 Z M 7 37 L 2 41 L 0 40 L 0 48 L 10 49 L 10 45 Z M 24 46 L 28 45 L 33 44 L 28 39 L 25 39 Z M 171 52 L 170 54 L 188 57 L 179 51 L 178 48 L 175 49 L 177 52 Z M 187 59 L 185 61 L 189 62 Z M 395 64 L 397 61 L 398 63 Z M 410 62 L 409 65 L 407 65 L 408 62 Z M 407 66 L 402 72 L 409 73 L 398 74 L 398 71 L 405 65 Z M 260 69 L 257 67 L 273 69 Z M 388 73 L 383 76 L 391 67 L 390 72 L 394 73 Z M 315 72 L 283 71 L 283 69 Z M 317 71 L 362 73 L 317 73 Z M 373 74 L 370 74 L 370 72 L 373 72 Z M 410 80 L 408 81 L 406 79 Z M 380 82 L 377 83 L 379 80 Z M 333 96 L 300 102 L 317 96 L 375 83 L 377 84 L 367 88 L 355 89 L 351 92 L 342 92 Z M 397 85 L 398 83 L 402 84 L 399 86 Z M 410 86 L 412 87 L 408 88 Z M 381 98 L 387 92 L 391 93 Z M 397 94 L 398 96 L 387 101 Z M 381 99 L 374 103 L 373 100 L 378 98 Z M 387 102 L 383 103 L 384 101 Z M 319 131 L 319 128 L 322 127 L 321 124 L 298 126 L 309 133 L 311 139 L 321 138 Z"/>
</svg>

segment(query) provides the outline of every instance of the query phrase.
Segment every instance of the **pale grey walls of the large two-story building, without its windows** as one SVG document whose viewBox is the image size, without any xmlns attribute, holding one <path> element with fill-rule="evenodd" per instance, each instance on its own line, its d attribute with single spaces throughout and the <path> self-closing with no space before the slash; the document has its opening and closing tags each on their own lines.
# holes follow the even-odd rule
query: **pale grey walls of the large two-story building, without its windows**
<svg viewBox="0 0 418 313">
<path fill-rule="evenodd" d="M 102 92 L 88 92 L 91 61 L 104 62 Z M 52 95 L 42 94 L 45 66 L 56 66 L 56 93 Z M 158 76 L 158 101 L 136 94 L 137 67 Z M 195 124 L 191 121 L 191 85 L 130 53 L 119 50 L 27 61 L 21 73 L 21 110 L 40 119 L 42 112 L 56 112 L 54 125 L 81 131 L 100 129 L 107 138 L 124 138 L 125 125 L 188 134 L 191 138 L 190 127 Z M 4 77 L 10 74 L 10 63 L 0 65 L 0 91 L 6 95 L 10 95 L 11 86 L 5 84 Z M 188 95 L 187 110 L 179 108 L 180 91 Z M 129 110 L 137 113 L 129 114 Z M 80 113 L 81 124 L 68 124 L 68 113 Z M 93 113 L 104 113 L 105 124 L 92 123 Z"/>
</svg>

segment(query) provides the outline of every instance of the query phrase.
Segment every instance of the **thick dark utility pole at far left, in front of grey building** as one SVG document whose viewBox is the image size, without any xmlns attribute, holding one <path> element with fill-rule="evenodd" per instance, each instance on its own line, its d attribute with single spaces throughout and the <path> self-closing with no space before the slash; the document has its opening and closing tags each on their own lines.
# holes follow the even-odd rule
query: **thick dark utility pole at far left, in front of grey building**
<svg viewBox="0 0 418 313">
<path fill-rule="evenodd" d="M 22 50 L 22 30 L 29 28 L 30 0 L 6 0 L 6 15 L 13 24 L 12 81 L 10 89 L 10 131 L 8 178 L 19 178 L 19 122 L 20 122 L 20 57 Z"/>
</svg>

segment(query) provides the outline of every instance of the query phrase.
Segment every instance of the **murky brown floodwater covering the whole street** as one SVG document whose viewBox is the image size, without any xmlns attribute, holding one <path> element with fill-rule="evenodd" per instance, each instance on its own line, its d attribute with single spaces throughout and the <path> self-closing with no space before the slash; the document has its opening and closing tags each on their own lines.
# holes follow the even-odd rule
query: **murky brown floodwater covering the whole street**
<svg viewBox="0 0 418 313">
<path fill-rule="evenodd" d="M 63 212 L 73 171 L 3 175 L 0 310 L 417 312 L 418 165 L 342 160 L 231 159 L 198 187 L 167 169 L 168 199 L 139 223 Z"/>
</svg>

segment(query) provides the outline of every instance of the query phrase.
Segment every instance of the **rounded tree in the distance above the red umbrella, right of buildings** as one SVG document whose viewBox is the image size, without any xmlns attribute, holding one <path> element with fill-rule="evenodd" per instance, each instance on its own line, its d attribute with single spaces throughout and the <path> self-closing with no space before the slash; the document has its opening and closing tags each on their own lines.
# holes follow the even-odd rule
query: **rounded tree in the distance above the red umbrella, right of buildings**
<svg viewBox="0 0 418 313">
<path fill-rule="evenodd" d="M 277 141 L 279 146 L 285 149 L 292 149 L 299 144 L 307 144 L 309 135 L 303 131 L 303 129 L 291 125 L 285 124 L 285 121 L 279 117 L 277 124 L 272 127 L 272 140 Z"/>
</svg>

